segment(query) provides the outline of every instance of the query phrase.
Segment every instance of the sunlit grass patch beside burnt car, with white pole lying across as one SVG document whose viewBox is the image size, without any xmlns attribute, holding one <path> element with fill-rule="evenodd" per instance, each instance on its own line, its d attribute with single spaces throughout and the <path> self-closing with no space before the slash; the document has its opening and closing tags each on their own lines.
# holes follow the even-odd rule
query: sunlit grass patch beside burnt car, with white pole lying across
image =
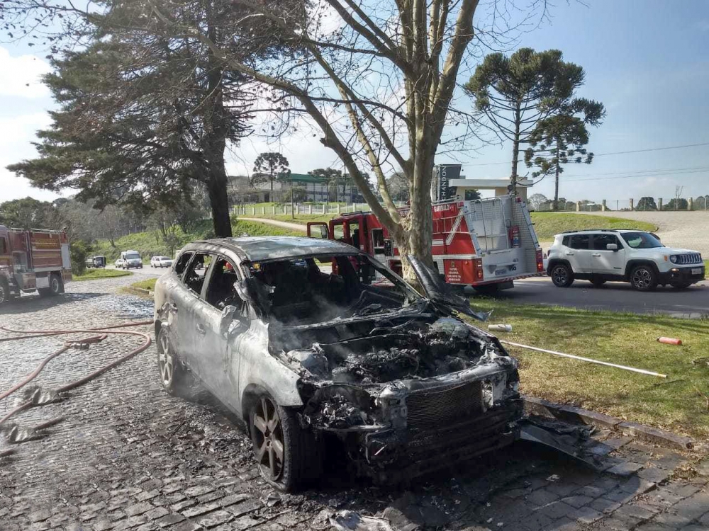
<svg viewBox="0 0 709 531">
<path fill-rule="evenodd" d="M 652 370 L 666 379 L 508 346 L 520 360 L 523 393 L 628 421 L 709 437 L 709 321 L 510 304 L 487 297 L 491 323 L 513 326 L 501 339 Z M 681 338 L 682 346 L 657 338 Z M 693 360 L 703 361 L 693 363 Z M 704 396 L 702 396 L 704 395 Z"/>
</svg>

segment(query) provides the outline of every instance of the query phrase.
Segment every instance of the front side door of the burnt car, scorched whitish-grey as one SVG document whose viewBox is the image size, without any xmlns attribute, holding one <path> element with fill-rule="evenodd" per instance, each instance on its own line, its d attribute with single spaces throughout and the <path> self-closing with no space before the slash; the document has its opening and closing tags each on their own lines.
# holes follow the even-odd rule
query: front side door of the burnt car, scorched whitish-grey
<svg viewBox="0 0 709 531">
<path fill-rule="evenodd" d="M 203 384 L 230 408 L 239 411 L 239 353 L 236 338 L 247 329 L 245 302 L 235 282 L 238 263 L 216 255 L 199 300 L 194 304 L 194 359 Z M 231 314 L 233 312 L 233 314 Z M 231 317 L 225 316 L 229 313 Z"/>
</svg>

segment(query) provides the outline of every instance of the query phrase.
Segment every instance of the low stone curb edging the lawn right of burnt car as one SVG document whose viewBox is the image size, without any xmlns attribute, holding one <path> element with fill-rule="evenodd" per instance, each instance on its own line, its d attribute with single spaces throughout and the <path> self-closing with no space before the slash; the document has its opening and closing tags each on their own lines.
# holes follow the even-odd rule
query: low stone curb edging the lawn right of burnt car
<svg viewBox="0 0 709 531">
<path fill-rule="evenodd" d="M 591 424 L 592 426 L 598 426 L 598 428 L 620 431 L 624 435 L 643 438 L 660 446 L 679 448 L 680 450 L 691 450 L 694 447 L 694 442 L 690 438 L 652 428 L 652 426 L 623 421 L 621 418 L 596 413 L 596 411 L 589 411 L 588 409 L 555 404 L 554 402 L 538 399 L 535 396 L 523 395 L 522 398 L 525 401 L 525 411 L 527 413 L 546 417 L 551 416 L 570 423 Z"/>
</svg>

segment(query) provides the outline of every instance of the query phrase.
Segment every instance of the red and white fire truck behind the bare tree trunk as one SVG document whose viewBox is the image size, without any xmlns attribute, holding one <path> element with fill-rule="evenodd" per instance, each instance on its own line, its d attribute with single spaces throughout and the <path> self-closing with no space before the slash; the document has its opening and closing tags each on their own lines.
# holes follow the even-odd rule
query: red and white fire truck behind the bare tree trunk
<svg viewBox="0 0 709 531">
<path fill-rule="evenodd" d="M 432 208 L 433 260 L 447 283 L 494 292 L 513 287 L 515 279 L 545 274 L 542 248 L 522 198 L 446 200 Z M 408 208 L 400 211 L 406 215 Z M 398 249 L 372 212 L 352 212 L 329 224 L 308 223 L 308 236 L 344 241 L 401 273 Z"/>
</svg>

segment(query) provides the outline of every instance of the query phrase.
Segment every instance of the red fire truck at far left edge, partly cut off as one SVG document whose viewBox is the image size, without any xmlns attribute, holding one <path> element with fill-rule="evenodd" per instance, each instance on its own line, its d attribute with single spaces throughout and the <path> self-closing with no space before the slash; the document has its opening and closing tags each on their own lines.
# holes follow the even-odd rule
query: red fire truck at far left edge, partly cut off
<svg viewBox="0 0 709 531">
<path fill-rule="evenodd" d="M 66 232 L 0 225 L 0 304 L 21 292 L 37 290 L 43 297 L 64 292 L 71 268 Z"/>
</svg>

